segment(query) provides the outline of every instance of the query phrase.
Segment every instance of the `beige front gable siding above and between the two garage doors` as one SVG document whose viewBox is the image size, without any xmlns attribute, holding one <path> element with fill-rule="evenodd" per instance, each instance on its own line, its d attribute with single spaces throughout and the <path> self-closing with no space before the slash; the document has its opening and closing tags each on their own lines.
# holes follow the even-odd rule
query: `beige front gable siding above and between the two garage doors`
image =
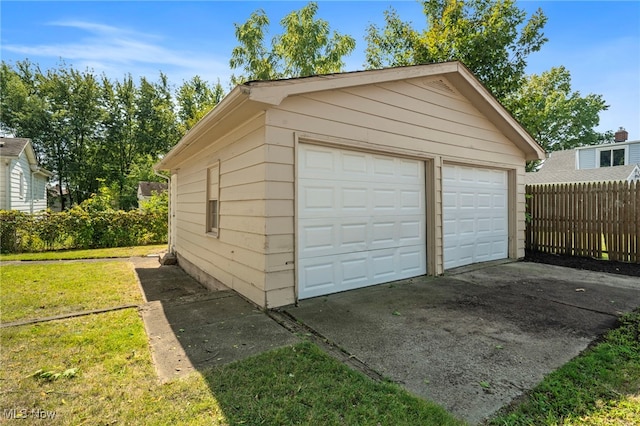
<svg viewBox="0 0 640 426">
<path fill-rule="evenodd" d="M 450 87 L 444 78 L 421 78 L 292 96 L 267 111 L 267 142 L 293 148 L 295 135 L 299 135 L 321 143 L 401 153 L 432 162 L 434 187 L 433 193 L 427 194 L 427 206 L 435 209 L 432 233 L 436 253 L 428 254 L 434 256 L 429 259 L 429 272 L 440 274 L 443 162 L 515 171 L 518 184 L 510 189 L 510 199 L 518 214 L 524 212 L 524 185 L 520 181 L 524 154 Z M 283 160 L 285 164 L 289 161 L 293 165 L 292 157 Z M 290 214 L 293 216 L 293 203 Z M 510 255 L 522 257 L 524 224 L 514 225 L 517 235 L 512 241 L 516 245 Z"/>
</svg>

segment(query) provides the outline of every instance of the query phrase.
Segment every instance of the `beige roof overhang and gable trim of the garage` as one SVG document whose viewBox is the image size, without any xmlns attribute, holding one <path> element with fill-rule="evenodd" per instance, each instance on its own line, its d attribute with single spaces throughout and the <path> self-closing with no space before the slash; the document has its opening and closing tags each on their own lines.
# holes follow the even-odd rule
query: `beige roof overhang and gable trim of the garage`
<svg viewBox="0 0 640 426">
<path fill-rule="evenodd" d="M 196 123 L 154 168 L 168 170 L 177 167 L 184 159 L 202 149 L 199 140 L 205 132 L 213 128 L 219 134 L 227 133 L 260 111 L 279 105 L 289 96 L 436 75 L 446 77 L 463 96 L 524 152 L 527 160 L 544 158 L 543 148 L 533 137 L 467 67 L 461 62 L 454 61 L 246 82 L 236 86 L 215 108 Z"/>
</svg>

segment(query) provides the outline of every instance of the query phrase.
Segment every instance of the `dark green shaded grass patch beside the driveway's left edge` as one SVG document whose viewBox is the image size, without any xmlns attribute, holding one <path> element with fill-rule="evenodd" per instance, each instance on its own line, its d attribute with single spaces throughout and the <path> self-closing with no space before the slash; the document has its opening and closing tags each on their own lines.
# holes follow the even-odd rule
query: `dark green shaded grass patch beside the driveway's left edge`
<svg viewBox="0 0 640 426">
<path fill-rule="evenodd" d="M 463 424 L 395 384 L 373 382 L 309 342 L 205 377 L 232 424 Z"/>
</svg>

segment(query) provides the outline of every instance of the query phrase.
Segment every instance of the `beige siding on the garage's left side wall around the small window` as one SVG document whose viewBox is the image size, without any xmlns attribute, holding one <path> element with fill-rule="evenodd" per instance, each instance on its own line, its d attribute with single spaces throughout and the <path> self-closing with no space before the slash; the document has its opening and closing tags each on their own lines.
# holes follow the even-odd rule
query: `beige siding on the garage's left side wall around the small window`
<svg viewBox="0 0 640 426">
<path fill-rule="evenodd" d="M 260 305 L 264 304 L 264 235 L 252 231 L 264 222 L 259 214 L 263 210 L 264 194 L 256 190 L 256 184 L 264 186 L 264 178 L 249 172 L 244 182 L 237 182 L 234 173 L 261 161 L 262 118 L 254 118 L 220 139 L 211 132 L 205 134 L 203 137 L 210 139 L 208 147 L 175 171 L 178 176 L 176 251 L 208 275 Z M 219 164 L 220 176 L 218 238 L 205 232 L 207 170 L 215 164 Z M 243 211 L 236 209 L 238 199 L 246 204 Z M 244 221 L 251 226 L 229 228 L 226 218 L 230 215 L 235 216 L 236 222 Z"/>
</svg>

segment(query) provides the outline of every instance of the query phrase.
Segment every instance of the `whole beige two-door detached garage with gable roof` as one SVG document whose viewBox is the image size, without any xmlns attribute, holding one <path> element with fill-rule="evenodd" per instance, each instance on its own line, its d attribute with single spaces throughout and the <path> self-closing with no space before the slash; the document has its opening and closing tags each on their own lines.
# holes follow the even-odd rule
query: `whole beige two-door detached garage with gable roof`
<svg viewBox="0 0 640 426">
<path fill-rule="evenodd" d="M 263 307 L 524 256 L 543 149 L 459 62 L 234 88 L 156 165 L 170 247 Z"/>
</svg>

